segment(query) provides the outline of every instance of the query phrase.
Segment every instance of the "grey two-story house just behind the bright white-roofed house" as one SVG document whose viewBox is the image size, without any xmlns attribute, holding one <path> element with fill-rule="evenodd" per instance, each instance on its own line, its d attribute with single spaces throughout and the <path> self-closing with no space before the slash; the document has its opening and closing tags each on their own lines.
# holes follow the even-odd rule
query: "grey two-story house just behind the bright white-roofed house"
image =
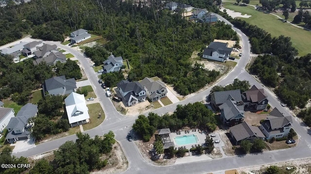
<svg viewBox="0 0 311 174">
<path fill-rule="evenodd" d="M 65 75 L 52 77 L 44 81 L 42 85 L 44 95 L 66 95 L 76 91 L 74 78 L 66 79 Z"/>
</svg>

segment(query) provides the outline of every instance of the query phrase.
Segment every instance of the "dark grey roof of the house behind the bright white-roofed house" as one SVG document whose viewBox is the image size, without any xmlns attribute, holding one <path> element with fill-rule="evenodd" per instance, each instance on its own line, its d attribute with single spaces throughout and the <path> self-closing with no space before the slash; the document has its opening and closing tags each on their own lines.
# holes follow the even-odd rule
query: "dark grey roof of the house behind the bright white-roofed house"
<svg viewBox="0 0 311 174">
<path fill-rule="evenodd" d="M 45 80 L 44 86 L 47 91 L 56 89 L 59 87 L 66 87 L 67 90 L 77 88 L 76 81 L 74 80 L 74 78 L 66 80 L 65 75 L 58 76 L 58 77 L 52 77 L 52 78 Z"/>
</svg>

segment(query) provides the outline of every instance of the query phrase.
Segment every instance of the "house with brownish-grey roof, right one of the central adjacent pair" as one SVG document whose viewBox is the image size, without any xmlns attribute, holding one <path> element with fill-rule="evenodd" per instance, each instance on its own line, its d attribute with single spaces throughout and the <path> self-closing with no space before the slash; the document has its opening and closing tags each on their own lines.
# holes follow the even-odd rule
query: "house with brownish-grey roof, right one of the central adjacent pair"
<svg viewBox="0 0 311 174">
<path fill-rule="evenodd" d="M 151 78 L 145 77 L 139 83 L 146 90 L 147 96 L 151 102 L 155 102 L 163 97 L 166 97 L 167 89 L 162 81 L 154 81 Z"/>
</svg>

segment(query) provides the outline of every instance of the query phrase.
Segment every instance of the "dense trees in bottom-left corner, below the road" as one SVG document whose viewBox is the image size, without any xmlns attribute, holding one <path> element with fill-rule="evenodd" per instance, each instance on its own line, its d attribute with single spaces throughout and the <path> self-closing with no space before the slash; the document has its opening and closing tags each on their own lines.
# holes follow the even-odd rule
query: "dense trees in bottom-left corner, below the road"
<svg viewBox="0 0 311 174">
<path fill-rule="evenodd" d="M 1 174 L 22 174 L 28 170 L 28 174 L 89 174 L 93 170 L 103 169 L 111 155 L 113 145 L 116 143 L 112 131 L 98 135 L 91 139 L 88 134 L 77 133 L 78 139 L 67 141 L 61 145 L 53 154 L 53 160 L 37 160 L 29 170 L 27 168 L 0 168 Z M 106 156 L 107 157 L 104 157 Z M 16 158 L 12 156 L 12 149 L 5 147 L 0 154 L 2 164 L 29 164 L 27 158 Z"/>
</svg>

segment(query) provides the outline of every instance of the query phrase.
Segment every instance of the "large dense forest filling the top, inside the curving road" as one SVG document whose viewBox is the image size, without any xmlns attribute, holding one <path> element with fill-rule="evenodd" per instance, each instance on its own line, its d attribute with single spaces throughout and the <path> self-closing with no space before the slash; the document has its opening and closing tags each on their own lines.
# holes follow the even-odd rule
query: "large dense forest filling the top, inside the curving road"
<svg viewBox="0 0 311 174">
<path fill-rule="evenodd" d="M 180 2 L 218 11 L 218 1 Z M 204 70 L 202 65 L 192 66 L 189 58 L 194 50 L 201 50 L 215 38 L 237 38 L 236 32 L 223 22 L 193 24 L 181 17 L 181 11 L 172 14 L 161 10 L 164 4 L 160 0 L 139 3 L 137 6 L 131 0 L 32 0 L 1 8 L 0 20 L 14 17 L 14 24 L 28 24 L 32 36 L 44 40 L 63 41 L 64 35 L 80 28 L 103 35 L 105 44 L 95 50 L 86 48 L 86 55 L 97 65 L 108 53 L 128 59 L 133 67 L 128 76 L 131 81 L 158 76 L 173 84 L 182 95 L 214 81 L 218 72 Z M 3 31 L 10 32 L 5 28 Z"/>
</svg>

